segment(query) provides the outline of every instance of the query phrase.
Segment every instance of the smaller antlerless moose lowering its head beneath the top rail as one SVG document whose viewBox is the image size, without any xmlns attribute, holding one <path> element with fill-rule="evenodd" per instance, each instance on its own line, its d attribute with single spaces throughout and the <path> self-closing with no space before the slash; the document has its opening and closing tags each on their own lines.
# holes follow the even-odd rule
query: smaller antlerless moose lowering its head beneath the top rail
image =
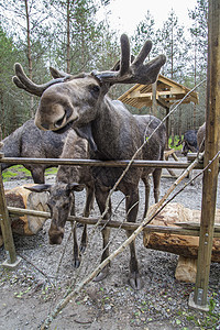
<svg viewBox="0 0 220 330">
<path fill-rule="evenodd" d="M 69 130 L 65 141 L 64 150 L 61 158 L 88 158 L 89 146 L 86 139 L 79 138 L 75 130 Z M 51 227 L 48 230 L 50 243 L 61 244 L 64 237 L 64 227 L 69 213 L 75 216 L 75 191 L 86 188 L 86 204 L 84 217 L 89 217 L 94 206 L 95 186 L 90 167 L 59 165 L 56 182 L 54 185 L 37 185 L 28 187 L 28 189 L 36 193 L 48 191 L 50 198 L 47 205 L 51 211 Z M 87 226 L 80 242 L 80 251 L 77 243 L 76 223 L 73 224 L 74 234 L 74 264 L 76 267 L 80 264 L 80 252 L 84 252 L 87 245 Z"/>
</svg>

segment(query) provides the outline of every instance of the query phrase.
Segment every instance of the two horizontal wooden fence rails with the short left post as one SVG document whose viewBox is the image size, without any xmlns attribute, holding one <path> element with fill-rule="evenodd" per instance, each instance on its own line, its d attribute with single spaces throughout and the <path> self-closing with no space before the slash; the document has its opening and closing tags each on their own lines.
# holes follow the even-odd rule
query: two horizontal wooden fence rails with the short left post
<svg viewBox="0 0 220 330">
<path fill-rule="evenodd" d="M 195 158 L 195 155 L 191 157 L 191 160 Z M 100 161 L 94 161 L 94 160 L 57 160 L 57 158 L 13 158 L 13 157 L 3 157 L 1 155 L 0 163 L 9 163 L 9 164 L 50 164 L 50 165 L 81 165 L 81 166 L 108 166 L 108 167 L 127 167 L 130 161 L 109 161 L 109 162 L 100 162 Z M 189 162 L 168 162 L 168 161 L 134 161 L 131 166 L 134 167 L 157 167 L 157 168 L 178 168 L 178 169 L 185 169 L 188 168 Z M 197 164 L 195 169 L 202 169 L 204 164 Z M 0 175 L 0 223 L 1 223 L 1 231 L 3 235 L 4 241 L 4 249 L 7 253 L 7 261 L 3 263 L 6 266 L 14 267 L 19 263 L 19 258 L 15 255 L 15 249 L 13 243 L 13 237 L 11 232 L 11 226 L 10 226 L 10 215 L 32 215 L 36 217 L 44 217 L 50 218 L 48 212 L 42 212 L 36 210 L 28 210 L 28 209 L 20 209 L 20 208 L 13 208 L 13 207 L 7 207 L 6 205 L 6 197 L 4 197 L 4 190 L 3 190 L 3 184 L 2 184 L 2 177 Z M 80 223 L 87 223 L 87 224 L 96 224 L 99 219 L 96 218 L 82 218 L 82 217 L 68 217 L 69 221 L 78 221 Z M 100 226 L 103 226 L 105 221 L 100 222 Z M 112 228 L 122 228 L 124 230 L 135 230 L 139 224 L 136 223 L 129 223 L 124 222 L 121 224 L 118 221 L 109 221 L 109 227 Z M 169 233 L 169 234 L 180 234 L 180 235 L 195 235 L 199 237 L 200 234 L 200 228 L 199 226 L 194 228 L 176 228 L 176 227 L 162 227 L 162 226 L 146 226 L 144 231 L 146 232 L 160 232 L 160 233 Z M 220 238 L 220 231 L 219 228 L 216 228 L 213 231 L 215 238 Z M 199 266 L 198 266 L 199 267 Z M 202 306 L 202 305 L 201 305 Z M 201 309 L 201 307 L 198 304 L 198 308 Z"/>
</svg>

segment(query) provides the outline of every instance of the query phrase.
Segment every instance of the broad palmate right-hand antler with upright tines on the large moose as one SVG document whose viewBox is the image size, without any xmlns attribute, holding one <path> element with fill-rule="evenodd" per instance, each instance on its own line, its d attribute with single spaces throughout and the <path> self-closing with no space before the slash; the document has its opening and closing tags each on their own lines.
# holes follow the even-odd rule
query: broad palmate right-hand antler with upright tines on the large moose
<svg viewBox="0 0 220 330">
<path fill-rule="evenodd" d="M 118 72 L 92 72 L 91 74 L 102 82 L 113 84 L 153 84 L 161 67 L 165 64 L 165 55 L 160 55 L 151 62 L 143 64 L 152 48 L 152 42 L 146 41 L 140 54 L 130 64 L 130 43 L 125 34 L 121 35 L 121 63 Z"/>
</svg>

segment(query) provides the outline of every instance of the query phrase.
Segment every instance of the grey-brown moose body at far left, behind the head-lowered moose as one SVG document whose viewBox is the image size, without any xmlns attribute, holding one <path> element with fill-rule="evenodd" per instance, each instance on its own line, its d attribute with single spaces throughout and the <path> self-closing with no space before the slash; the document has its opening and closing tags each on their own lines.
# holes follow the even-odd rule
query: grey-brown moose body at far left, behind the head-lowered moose
<svg viewBox="0 0 220 330">
<path fill-rule="evenodd" d="M 67 133 L 67 131 L 62 134 L 42 131 L 34 124 L 34 120 L 30 119 L 2 140 L 3 146 L 0 152 L 4 154 L 4 157 L 58 158 L 62 154 Z M 4 170 L 13 166 L 13 164 L 2 163 L 0 166 L 1 170 Z M 51 166 L 44 164 L 25 164 L 24 167 L 31 172 L 35 184 L 44 184 L 45 169 Z"/>
</svg>

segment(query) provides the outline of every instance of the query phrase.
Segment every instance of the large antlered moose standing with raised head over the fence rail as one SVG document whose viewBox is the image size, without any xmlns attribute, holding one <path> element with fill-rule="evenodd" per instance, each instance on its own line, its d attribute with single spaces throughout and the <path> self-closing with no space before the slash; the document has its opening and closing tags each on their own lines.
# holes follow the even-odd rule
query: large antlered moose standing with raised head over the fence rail
<svg viewBox="0 0 220 330">
<path fill-rule="evenodd" d="M 20 65 L 15 65 L 16 77 L 13 78 L 18 87 L 31 94 L 41 96 L 40 106 L 35 116 L 35 123 L 43 130 L 58 131 L 69 125 L 80 130 L 88 129 L 88 140 L 95 142 L 94 158 L 98 160 L 131 160 L 138 148 L 136 158 L 161 160 L 163 144 L 158 135 L 154 133 L 148 139 L 147 127 L 132 116 L 123 106 L 112 102 L 106 96 L 113 84 L 153 84 L 165 63 L 165 56 L 160 55 L 155 59 L 143 64 L 150 53 L 152 43 L 145 42 L 140 54 L 130 64 L 130 44 L 127 35 L 121 36 L 121 62 L 118 72 L 92 72 L 78 76 L 57 75 L 45 85 L 33 84 L 23 73 Z M 141 122 L 141 124 L 140 124 Z M 150 124 L 148 124 L 150 125 Z M 161 123 L 160 123 L 161 125 Z M 156 127 L 156 124 L 155 124 Z M 165 131 L 164 127 L 162 131 Z M 162 134 L 163 139 L 165 133 Z M 143 145 L 143 147 L 141 147 Z M 109 191 L 121 176 L 122 168 L 94 167 L 96 200 L 100 212 L 106 209 Z M 127 219 L 135 222 L 139 209 L 139 182 L 147 176 L 152 168 L 130 168 L 118 184 L 117 189 L 125 195 Z M 105 219 L 111 218 L 111 205 Z M 131 232 L 128 231 L 128 235 Z M 103 253 L 101 261 L 109 255 L 110 229 L 102 230 Z M 130 284 L 133 288 L 141 287 L 138 258 L 134 241 L 130 244 Z M 106 266 L 97 276 L 102 279 L 108 274 Z"/>
</svg>

